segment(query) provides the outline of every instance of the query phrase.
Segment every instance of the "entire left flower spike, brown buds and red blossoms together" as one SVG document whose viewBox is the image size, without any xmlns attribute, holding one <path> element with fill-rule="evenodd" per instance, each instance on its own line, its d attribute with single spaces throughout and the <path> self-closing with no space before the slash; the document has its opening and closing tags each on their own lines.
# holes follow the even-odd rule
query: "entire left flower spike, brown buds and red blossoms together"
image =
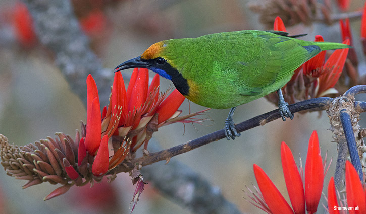
<svg viewBox="0 0 366 214">
<path fill-rule="evenodd" d="M 100 182 L 104 175 L 113 180 L 116 176 L 113 169 L 127 157 L 134 158 L 138 148 L 144 145 L 148 153 L 148 141 L 158 128 L 175 122 L 202 122 L 192 117 L 206 110 L 179 116 L 178 108 L 185 97 L 177 90 L 169 95 L 170 90 L 160 93 L 158 75 L 150 86 L 148 80 L 148 70 L 136 68 L 126 91 L 121 73 L 115 73 L 109 105 L 101 113 L 98 89 L 89 75 L 87 121 L 86 125 L 81 122 L 81 131 L 76 131 L 75 139 L 56 133 L 55 138 L 18 147 L 0 134 L 1 164 L 7 174 L 28 180 L 23 188 L 42 182 L 62 184 L 44 198 L 48 200 L 64 194 L 73 185 Z M 138 177 L 141 189 L 143 178 Z"/>
</svg>

